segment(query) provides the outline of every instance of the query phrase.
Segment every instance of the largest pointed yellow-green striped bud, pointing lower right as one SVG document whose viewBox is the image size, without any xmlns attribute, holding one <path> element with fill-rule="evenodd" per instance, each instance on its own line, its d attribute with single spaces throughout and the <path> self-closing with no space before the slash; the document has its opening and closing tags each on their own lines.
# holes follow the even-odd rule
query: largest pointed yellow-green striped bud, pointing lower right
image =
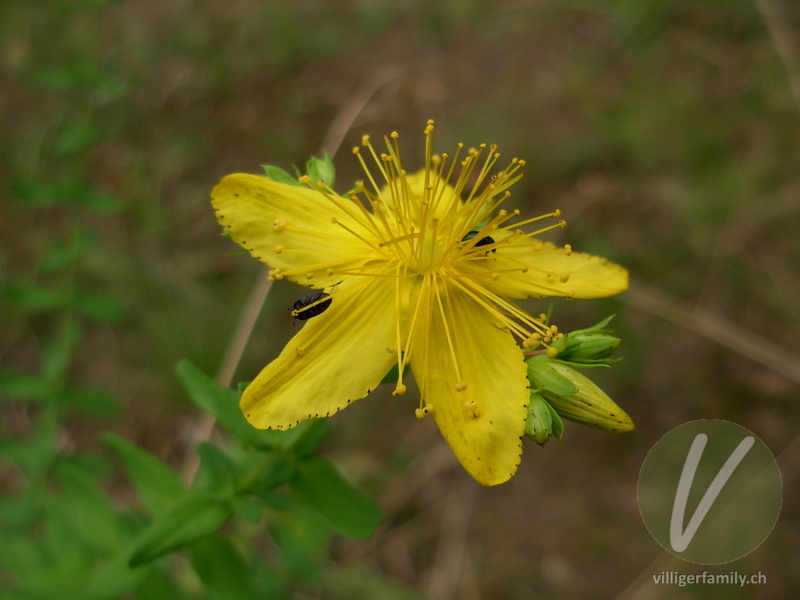
<svg viewBox="0 0 800 600">
<path fill-rule="evenodd" d="M 634 428 L 633 420 L 591 379 L 557 360 L 549 361 L 548 366 L 569 379 L 576 389 L 561 395 L 546 388 L 539 390 L 559 415 L 605 431 L 621 433 Z"/>
</svg>

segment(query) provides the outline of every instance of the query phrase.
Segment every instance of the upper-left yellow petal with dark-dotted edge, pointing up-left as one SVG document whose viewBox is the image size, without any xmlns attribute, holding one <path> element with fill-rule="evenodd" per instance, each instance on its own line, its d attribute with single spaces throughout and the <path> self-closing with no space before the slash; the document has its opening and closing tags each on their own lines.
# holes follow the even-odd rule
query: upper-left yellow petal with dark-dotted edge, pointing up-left
<svg viewBox="0 0 800 600">
<path fill-rule="evenodd" d="M 361 225 L 363 213 L 339 196 L 331 200 L 316 190 L 239 173 L 217 184 L 211 203 L 236 243 L 286 279 L 309 287 L 341 281 L 329 269 L 349 271 L 374 253 L 357 237 L 370 236 Z"/>
</svg>

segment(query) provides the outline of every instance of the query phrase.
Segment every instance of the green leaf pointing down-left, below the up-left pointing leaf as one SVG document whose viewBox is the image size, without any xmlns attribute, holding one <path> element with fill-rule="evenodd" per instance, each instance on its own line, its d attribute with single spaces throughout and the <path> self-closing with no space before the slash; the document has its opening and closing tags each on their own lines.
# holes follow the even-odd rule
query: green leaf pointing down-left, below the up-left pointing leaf
<svg viewBox="0 0 800 600">
<path fill-rule="evenodd" d="M 187 493 L 134 540 L 129 564 L 153 561 L 213 533 L 231 516 L 231 501 L 230 495 L 211 491 Z"/>
</svg>

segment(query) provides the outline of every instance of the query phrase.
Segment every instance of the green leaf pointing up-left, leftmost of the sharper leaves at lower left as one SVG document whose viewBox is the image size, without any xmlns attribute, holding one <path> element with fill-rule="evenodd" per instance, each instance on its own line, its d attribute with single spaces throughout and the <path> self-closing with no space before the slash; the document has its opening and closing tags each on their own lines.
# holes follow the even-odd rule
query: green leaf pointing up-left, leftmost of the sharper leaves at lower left
<svg viewBox="0 0 800 600">
<path fill-rule="evenodd" d="M 178 475 L 155 455 L 114 433 L 105 434 L 103 441 L 122 459 L 139 500 L 151 514 L 164 512 L 184 494 Z"/>
</svg>

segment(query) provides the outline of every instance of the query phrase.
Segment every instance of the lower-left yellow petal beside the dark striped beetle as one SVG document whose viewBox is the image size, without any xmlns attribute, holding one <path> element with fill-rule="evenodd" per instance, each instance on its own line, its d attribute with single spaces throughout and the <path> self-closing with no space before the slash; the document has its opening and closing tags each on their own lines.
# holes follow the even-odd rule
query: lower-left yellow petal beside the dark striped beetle
<svg viewBox="0 0 800 600">
<path fill-rule="evenodd" d="M 395 280 L 352 277 L 331 290 L 330 308 L 309 319 L 242 394 L 259 429 L 288 429 L 363 398 L 396 361 Z"/>
</svg>

